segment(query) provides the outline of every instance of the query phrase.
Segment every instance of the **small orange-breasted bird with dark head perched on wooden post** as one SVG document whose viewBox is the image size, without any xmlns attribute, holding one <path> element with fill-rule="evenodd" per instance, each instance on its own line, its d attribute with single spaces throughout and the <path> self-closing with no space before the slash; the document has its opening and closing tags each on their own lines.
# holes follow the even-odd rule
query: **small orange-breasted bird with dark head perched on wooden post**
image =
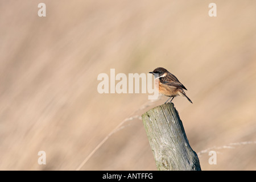
<svg viewBox="0 0 256 182">
<path fill-rule="evenodd" d="M 187 90 L 184 85 L 174 76 L 172 73 L 168 72 L 164 68 L 156 68 L 152 73 L 155 77 L 155 86 L 158 87 L 159 93 L 164 94 L 164 96 L 174 99 L 176 96 L 184 96 L 189 102 L 193 102 L 186 96 L 183 89 Z M 168 98 L 168 100 L 170 100 Z M 166 102 L 168 102 L 168 100 Z M 171 101 L 172 101 L 171 100 Z M 171 102 L 170 101 L 170 102 Z M 166 102 L 164 104 L 166 104 Z"/>
</svg>

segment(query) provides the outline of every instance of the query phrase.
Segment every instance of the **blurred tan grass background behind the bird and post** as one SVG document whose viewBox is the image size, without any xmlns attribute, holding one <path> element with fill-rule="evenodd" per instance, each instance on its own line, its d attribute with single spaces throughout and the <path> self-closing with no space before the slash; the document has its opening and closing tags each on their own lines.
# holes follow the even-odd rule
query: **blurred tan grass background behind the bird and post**
<svg viewBox="0 0 256 182">
<path fill-rule="evenodd" d="M 38 4 L 46 3 L 46 17 Z M 217 17 L 208 5 L 217 4 Z M 256 140 L 256 1 L 0 1 L 0 169 L 74 170 L 124 119 L 163 104 L 99 94 L 100 73 L 164 67 L 197 153 Z M 46 151 L 46 165 L 38 151 Z M 255 170 L 255 144 L 199 156 L 203 170 Z M 82 170 L 155 170 L 141 119 L 127 121 Z"/>
</svg>

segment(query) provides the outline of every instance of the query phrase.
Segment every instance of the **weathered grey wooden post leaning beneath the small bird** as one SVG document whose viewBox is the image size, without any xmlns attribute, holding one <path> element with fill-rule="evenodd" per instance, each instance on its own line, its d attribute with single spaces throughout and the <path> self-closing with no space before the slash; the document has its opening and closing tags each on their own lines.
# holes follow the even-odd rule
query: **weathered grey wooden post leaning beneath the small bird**
<svg viewBox="0 0 256 182">
<path fill-rule="evenodd" d="M 142 115 L 142 120 L 158 170 L 201 171 L 174 104 L 154 107 Z"/>
</svg>

